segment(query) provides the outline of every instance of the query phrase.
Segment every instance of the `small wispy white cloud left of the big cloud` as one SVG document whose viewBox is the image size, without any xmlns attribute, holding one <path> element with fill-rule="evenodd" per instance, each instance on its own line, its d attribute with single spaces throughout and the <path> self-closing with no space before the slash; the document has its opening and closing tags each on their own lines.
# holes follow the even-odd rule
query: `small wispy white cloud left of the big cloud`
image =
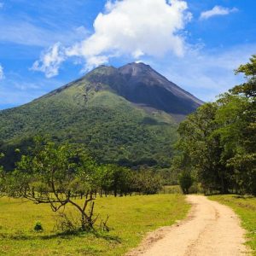
<svg viewBox="0 0 256 256">
<path fill-rule="evenodd" d="M 61 43 L 56 43 L 41 55 L 38 61 L 32 65 L 32 70 L 45 73 L 47 78 L 54 77 L 59 73 L 61 63 L 65 61 L 65 50 Z"/>
</svg>

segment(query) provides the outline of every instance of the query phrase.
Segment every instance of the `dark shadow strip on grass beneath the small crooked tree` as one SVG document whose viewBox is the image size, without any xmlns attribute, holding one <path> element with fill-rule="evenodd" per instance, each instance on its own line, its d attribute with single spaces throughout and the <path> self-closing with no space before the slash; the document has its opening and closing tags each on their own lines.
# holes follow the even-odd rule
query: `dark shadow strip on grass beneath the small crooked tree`
<svg viewBox="0 0 256 256">
<path fill-rule="evenodd" d="M 86 237 L 86 236 L 95 236 L 96 238 L 104 239 L 106 241 L 114 241 L 116 243 L 121 243 L 121 239 L 119 236 L 111 236 L 106 231 L 101 230 L 90 230 L 87 232 L 83 231 L 66 231 L 61 233 L 55 233 L 52 235 L 39 235 L 38 233 L 34 233 L 32 235 L 26 235 L 22 232 L 17 232 L 15 234 L 4 234 L 0 233 L 0 239 L 9 239 L 9 240 L 16 240 L 16 241 L 26 241 L 26 240 L 50 240 L 55 238 L 61 239 L 73 239 L 75 237 Z"/>
</svg>

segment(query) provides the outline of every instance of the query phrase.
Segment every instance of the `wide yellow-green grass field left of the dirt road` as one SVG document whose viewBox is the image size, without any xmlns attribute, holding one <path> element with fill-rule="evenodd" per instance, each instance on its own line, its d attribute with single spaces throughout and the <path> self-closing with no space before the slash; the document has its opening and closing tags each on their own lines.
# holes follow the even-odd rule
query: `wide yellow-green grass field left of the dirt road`
<svg viewBox="0 0 256 256">
<path fill-rule="evenodd" d="M 102 218 L 110 215 L 109 232 L 60 236 L 53 230 L 55 213 L 49 206 L 2 198 L 0 254 L 122 255 L 131 247 L 137 247 L 148 231 L 171 225 L 184 218 L 188 211 L 189 205 L 182 195 L 99 198 L 96 199 L 96 212 Z M 33 231 L 37 221 L 43 224 L 43 232 Z"/>
</svg>

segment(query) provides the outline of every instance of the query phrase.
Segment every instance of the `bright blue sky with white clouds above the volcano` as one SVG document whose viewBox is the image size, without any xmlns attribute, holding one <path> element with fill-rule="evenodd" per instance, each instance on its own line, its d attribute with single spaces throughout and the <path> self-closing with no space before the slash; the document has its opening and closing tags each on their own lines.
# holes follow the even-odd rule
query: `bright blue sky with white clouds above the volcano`
<svg viewBox="0 0 256 256">
<path fill-rule="evenodd" d="M 143 61 L 203 101 L 256 54 L 254 0 L 0 0 L 0 109 Z"/>
</svg>

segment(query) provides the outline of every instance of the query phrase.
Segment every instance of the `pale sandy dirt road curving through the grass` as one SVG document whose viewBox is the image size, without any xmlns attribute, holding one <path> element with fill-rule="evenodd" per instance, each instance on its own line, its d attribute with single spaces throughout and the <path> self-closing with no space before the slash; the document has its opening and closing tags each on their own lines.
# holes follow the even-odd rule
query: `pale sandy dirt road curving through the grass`
<svg viewBox="0 0 256 256">
<path fill-rule="evenodd" d="M 184 221 L 148 235 L 129 256 L 236 256 L 248 253 L 236 214 L 203 195 L 188 195 L 192 204 Z M 248 254 L 247 254 L 248 255 Z"/>
</svg>

